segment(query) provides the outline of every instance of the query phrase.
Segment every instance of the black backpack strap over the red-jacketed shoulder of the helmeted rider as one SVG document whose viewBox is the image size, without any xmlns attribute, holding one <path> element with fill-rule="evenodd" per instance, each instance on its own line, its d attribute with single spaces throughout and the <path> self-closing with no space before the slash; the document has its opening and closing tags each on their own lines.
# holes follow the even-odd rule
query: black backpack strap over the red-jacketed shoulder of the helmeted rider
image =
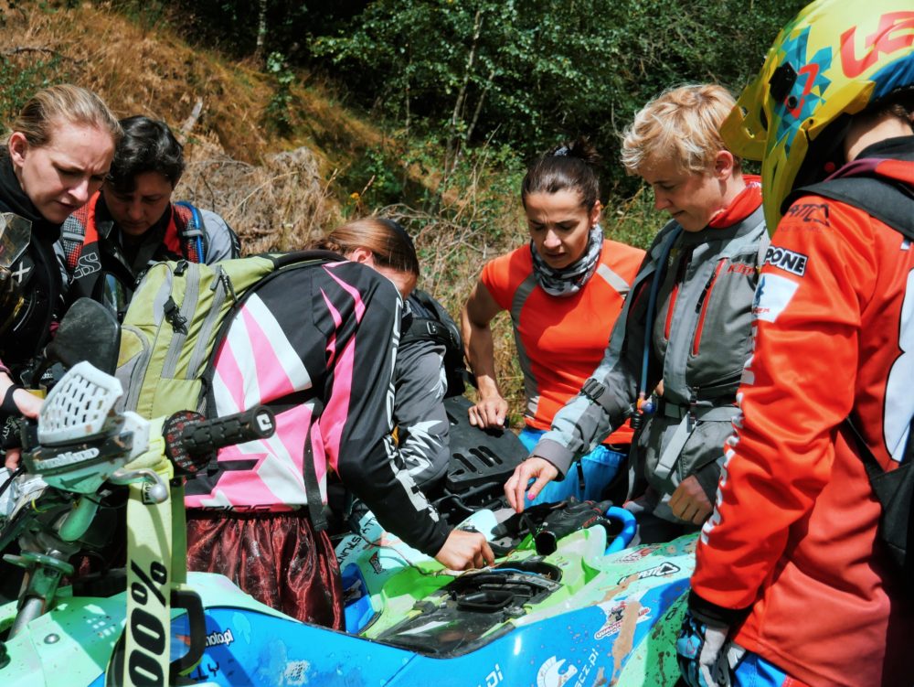
<svg viewBox="0 0 914 687">
<path fill-rule="evenodd" d="M 907 184 L 886 177 L 838 177 L 798 188 L 791 198 L 810 194 L 862 209 L 914 241 L 914 189 Z"/>
</svg>

